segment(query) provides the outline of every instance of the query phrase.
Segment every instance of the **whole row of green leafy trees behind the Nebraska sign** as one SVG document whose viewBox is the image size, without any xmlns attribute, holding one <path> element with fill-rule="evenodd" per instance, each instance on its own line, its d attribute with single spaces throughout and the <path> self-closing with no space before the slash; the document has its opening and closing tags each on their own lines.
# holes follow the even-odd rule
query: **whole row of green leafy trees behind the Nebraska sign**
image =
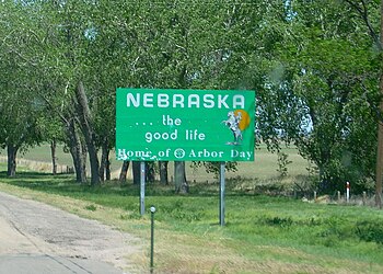
<svg viewBox="0 0 383 274">
<path fill-rule="evenodd" d="M 374 182 L 381 205 L 382 2 L 1 1 L 8 174 L 18 151 L 60 141 L 79 182 L 86 159 L 92 184 L 108 179 L 118 87 L 249 89 L 257 144 L 297 146 L 322 192 Z M 167 162 L 159 165 L 167 180 Z"/>
</svg>

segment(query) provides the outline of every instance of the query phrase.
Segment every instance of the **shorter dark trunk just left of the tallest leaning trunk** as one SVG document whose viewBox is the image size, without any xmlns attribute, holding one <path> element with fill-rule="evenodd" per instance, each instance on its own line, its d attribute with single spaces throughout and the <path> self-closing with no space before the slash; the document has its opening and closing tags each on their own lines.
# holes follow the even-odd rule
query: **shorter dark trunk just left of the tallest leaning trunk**
<svg viewBox="0 0 383 274">
<path fill-rule="evenodd" d="M 82 146 L 78 132 L 76 130 L 76 124 L 73 119 L 70 119 L 66 127 L 66 134 L 69 139 L 69 151 L 72 156 L 76 181 L 78 183 L 86 182 L 86 169 L 85 161 L 82 156 Z"/>
</svg>

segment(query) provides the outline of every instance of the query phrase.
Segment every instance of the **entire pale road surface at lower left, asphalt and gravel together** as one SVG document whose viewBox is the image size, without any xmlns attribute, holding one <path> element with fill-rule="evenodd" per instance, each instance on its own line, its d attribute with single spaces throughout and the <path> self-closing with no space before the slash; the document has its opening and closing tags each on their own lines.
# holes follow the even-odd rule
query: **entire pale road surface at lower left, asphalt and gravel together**
<svg viewBox="0 0 383 274">
<path fill-rule="evenodd" d="M 129 235 L 0 192 L 0 274 L 128 273 L 137 250 Z"/>
</svg>

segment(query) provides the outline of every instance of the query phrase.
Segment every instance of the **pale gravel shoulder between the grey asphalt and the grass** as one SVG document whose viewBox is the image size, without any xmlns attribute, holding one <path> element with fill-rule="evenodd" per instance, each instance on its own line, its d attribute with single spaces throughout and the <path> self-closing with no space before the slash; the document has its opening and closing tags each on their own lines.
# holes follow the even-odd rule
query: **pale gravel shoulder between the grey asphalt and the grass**
<svg viewBox="0 0 383 274">
<path fill-rule="evenodd" d="M 105 262 L 130 272 L 140 240 L 95 220 L 0 192 L 0 256 L 33 254 Z"/>
</svg>

